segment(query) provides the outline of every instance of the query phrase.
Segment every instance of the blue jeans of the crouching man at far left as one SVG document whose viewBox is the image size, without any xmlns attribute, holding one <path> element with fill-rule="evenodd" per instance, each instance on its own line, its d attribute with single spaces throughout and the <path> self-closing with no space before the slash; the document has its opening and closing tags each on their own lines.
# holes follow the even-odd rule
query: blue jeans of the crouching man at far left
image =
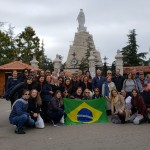
<svg viewBox="0 0 150 150">
<path fill-rule="evenodd" d="M 34 126 L 35 121 L 26 114 L 23 114 L 21 116 L 13 117 L 10 120 L 10 123 L 17 126 L 16 130 L 23 130 L 24 126 Z"/>
</svg>

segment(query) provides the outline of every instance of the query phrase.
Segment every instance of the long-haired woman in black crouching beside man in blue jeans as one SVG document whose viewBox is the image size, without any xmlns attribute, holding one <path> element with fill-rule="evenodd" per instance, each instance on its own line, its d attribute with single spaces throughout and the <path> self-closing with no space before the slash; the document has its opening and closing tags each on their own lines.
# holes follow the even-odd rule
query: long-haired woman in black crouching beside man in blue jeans
<svg viewBox="0 0 150 150">
<path fill-rule="evenodd" d="M 38 115 L 41 113 L 42 100 L 36 89 L 31 91 L 31 96 L 28 100 L 28 111 L 30 116 L 35 121 L 37 120 Z"/>
</svg>

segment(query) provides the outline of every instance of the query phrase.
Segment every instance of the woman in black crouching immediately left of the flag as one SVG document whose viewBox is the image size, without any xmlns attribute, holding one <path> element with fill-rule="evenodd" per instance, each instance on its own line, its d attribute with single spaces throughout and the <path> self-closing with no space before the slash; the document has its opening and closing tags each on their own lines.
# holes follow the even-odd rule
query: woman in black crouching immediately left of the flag
<svg viewBox="0 0 150 150">
<path fill-rule="evenodd" d="M 48 117 L 55 124 L 60 122 L 64 115 L 61 91 L 56 91 L 48 106 Z"/>
</svg>

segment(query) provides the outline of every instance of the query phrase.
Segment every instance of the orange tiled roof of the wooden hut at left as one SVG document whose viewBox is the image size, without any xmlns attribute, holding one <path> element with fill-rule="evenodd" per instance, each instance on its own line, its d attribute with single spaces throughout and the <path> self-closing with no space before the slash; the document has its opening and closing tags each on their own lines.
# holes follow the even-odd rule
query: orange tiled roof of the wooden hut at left
<svg viewBox="0 0 150 150">
<path fill-rule="evenodd" d="M 14 61 L 0 66 L 0 70 L 23 70 L 23 69 L 38 70 L 38 68 L 22 63 L 21 61 Z"/>
</svg>

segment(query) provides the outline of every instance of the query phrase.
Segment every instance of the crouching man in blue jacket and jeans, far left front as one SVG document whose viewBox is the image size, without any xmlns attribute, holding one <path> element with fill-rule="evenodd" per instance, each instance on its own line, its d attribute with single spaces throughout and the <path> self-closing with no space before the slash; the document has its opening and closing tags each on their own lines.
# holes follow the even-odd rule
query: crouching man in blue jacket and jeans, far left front
<svg viewBox="0 0 150 150">
<path fill-rule="evenodd" d="M 15 101 L 9 116 L 11 124 L 16 125 L 16 134 L 25 134 L 24 126 L 34 126 L 35 121 L 31 119 L 28 111 L 29 90 L 23 90 L 22 98 Z"/>
</svg>

